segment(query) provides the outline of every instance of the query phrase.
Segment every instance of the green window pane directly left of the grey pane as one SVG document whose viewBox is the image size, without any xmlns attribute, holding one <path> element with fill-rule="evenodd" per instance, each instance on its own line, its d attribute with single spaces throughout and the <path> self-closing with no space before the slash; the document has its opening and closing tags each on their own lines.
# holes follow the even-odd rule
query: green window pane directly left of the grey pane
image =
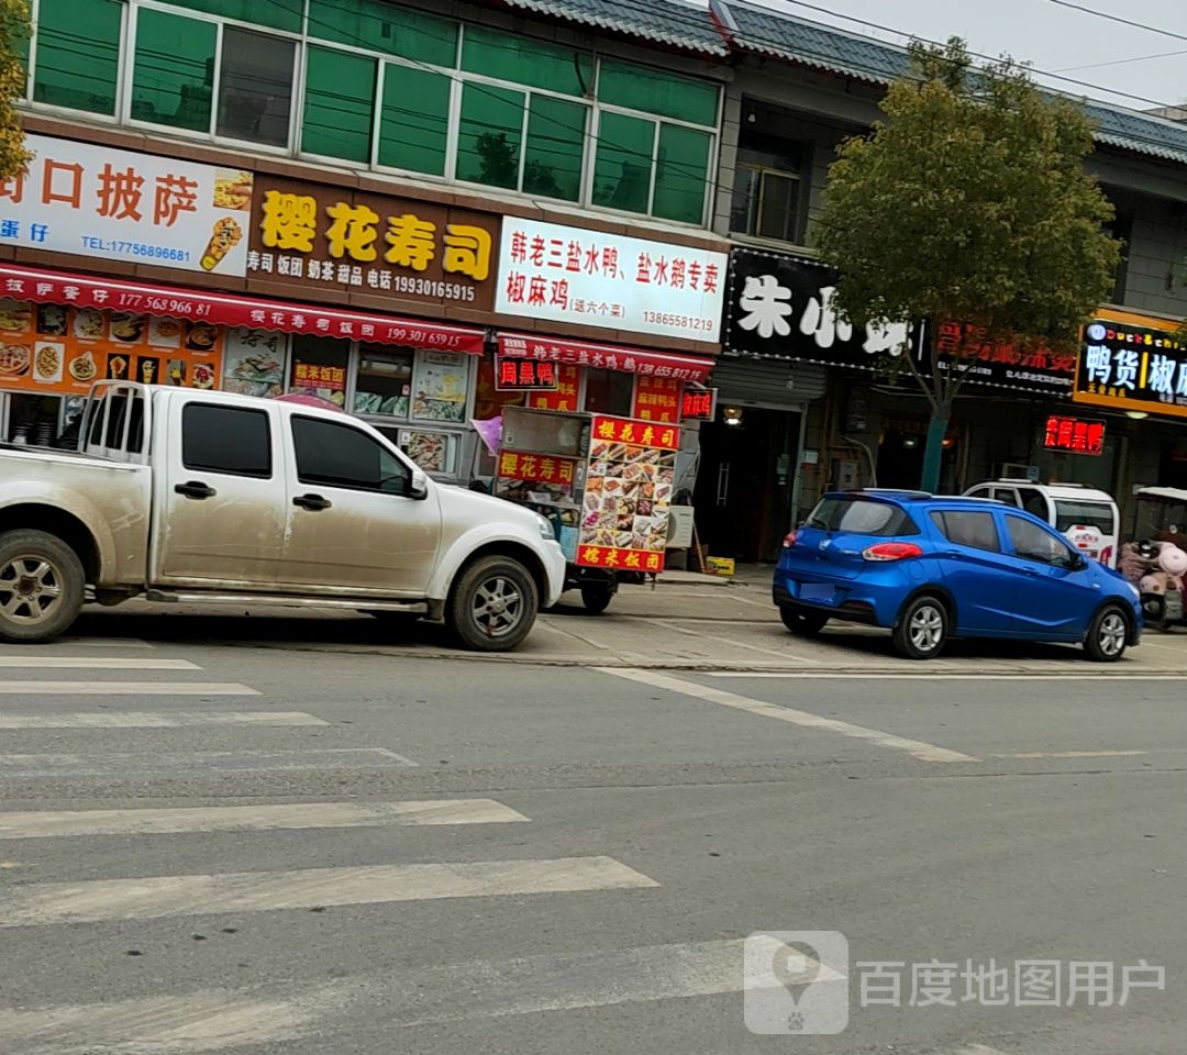
<svg viewBox="0 0 1187 1055">
<path fill-rule="evenodd" d="M 132 116 L 173 128 L 210 129 L 217 26 L 141 7 L 132 74 Z"/>
</svg>

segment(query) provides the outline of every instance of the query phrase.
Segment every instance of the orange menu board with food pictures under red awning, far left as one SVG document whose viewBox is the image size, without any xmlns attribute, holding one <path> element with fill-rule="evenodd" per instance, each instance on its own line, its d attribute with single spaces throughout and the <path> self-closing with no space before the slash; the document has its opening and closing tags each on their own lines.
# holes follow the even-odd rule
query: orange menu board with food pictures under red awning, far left
<svg viewBox="0 0 1187 1055">
<path fill-rule="evenodd" d="M 101 379 L 215 388 L 223 330 L 161 316 L 0 299 L 0 387 L 85 394 Z"/>
</svg>

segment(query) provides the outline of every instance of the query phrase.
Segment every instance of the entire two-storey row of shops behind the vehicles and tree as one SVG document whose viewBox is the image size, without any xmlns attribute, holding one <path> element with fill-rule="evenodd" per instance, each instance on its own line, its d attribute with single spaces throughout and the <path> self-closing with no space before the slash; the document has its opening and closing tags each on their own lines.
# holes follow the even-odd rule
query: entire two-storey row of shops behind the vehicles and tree
<svg viewBox="0 0 1187 1055">
<path fill-rule="evenodd" d="M 0 188 L 0 437 L 45 440 L 95 376 L 297 392 L 465 482 L 494 471 L 475 422 L 504 405 L 677 421 L 707 383 L 678 492 L 711 553 L 773 558 L 827 488 L 918 484 L 927 405 L 882 369 L 903 335 L 839 325 L 812 249 L 836 147 L 906 52 L 711 8 L 34 0 L 37 159 Z M 946 490 L 1187 485 L 1187 371 L 1180 393 L 1162 344 L 1187 314 L 1187 125 L 1090 114 L 1126 244 L 1105 336 L 1074 361 L 983 349 Z M 907 336 L 941 361 L 951 337 Z M 544 390 L 525 360 L 552 364 Z M 1103 439 L 1048 444 L 1054 419 Z"/>
</svg>

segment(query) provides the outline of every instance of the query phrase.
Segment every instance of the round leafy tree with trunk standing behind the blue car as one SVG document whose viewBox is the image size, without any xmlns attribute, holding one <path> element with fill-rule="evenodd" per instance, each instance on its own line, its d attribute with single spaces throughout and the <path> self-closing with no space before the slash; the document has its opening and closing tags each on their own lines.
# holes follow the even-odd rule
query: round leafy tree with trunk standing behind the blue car
<svg viewBox="0 0 1187 1055">
<path fill-rule="evenodd" d="M 986 344 L 1069 351 L 1113 286 L 1113 209 L 1084 169 L 1081 106 L 1009 59 L 975 69 L 965 44 L 918 42 L 886 120 L 846 140 L 829 171 L 817 241 L 857 324 L 957 324 L 956 348 L 897 362 L 931 403 L 921 487 L 935 490 L 952 402 Z M 896 349 L 897 350 L 897 349 Z"/>
</svg>

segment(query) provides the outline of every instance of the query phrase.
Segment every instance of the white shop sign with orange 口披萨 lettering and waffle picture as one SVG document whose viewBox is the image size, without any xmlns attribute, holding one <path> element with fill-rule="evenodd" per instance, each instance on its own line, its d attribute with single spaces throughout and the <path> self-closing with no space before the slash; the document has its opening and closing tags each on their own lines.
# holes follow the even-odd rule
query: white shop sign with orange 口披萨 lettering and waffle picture
<svg viewBox="0 0 1187 1055">
<path fill-rule="evenodd" d="M 241 277 L 250 172 L 30 134 L 0 182 L 0 246 Z"/>
</svg>

